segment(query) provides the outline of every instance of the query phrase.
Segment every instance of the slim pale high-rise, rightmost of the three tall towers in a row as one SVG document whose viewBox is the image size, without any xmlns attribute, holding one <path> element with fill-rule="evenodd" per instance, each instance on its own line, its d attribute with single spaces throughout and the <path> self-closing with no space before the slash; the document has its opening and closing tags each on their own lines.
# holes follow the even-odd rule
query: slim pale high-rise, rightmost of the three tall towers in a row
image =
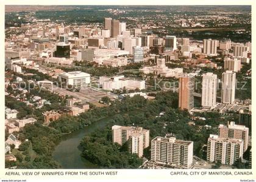
<svg viewBox="0 0 256 182">
<path fill-rule="evenodd" d="M 222 73 L 221 102 L 224 104 L 235 102 L 235 73 L 229 70 Z"/>
</svg>

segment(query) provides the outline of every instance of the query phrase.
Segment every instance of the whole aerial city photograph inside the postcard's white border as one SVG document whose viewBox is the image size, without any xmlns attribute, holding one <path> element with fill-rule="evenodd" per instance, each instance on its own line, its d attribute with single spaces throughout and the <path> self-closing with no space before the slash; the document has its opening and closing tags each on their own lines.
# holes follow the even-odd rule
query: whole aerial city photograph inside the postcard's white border
<svg viewBox="0 0 256 182">
<path fill-rule="evenodd" d="M 251 169 L 251 5 L 5 5 L 4 29 L 5 168 Z"/>
</svg>

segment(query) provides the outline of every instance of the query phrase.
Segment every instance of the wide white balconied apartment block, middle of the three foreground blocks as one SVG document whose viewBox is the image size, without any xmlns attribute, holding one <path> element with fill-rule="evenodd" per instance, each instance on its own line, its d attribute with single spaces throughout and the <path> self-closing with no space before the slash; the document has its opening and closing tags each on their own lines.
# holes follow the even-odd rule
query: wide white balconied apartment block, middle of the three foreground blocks
<svg viewBox="0 0 256 182">
<path fill-rule="evenodd" d="M 157 136 L 151 141 L 151 160 L 190 168 L 193 163 L 193 141 Z"/>
</svg>

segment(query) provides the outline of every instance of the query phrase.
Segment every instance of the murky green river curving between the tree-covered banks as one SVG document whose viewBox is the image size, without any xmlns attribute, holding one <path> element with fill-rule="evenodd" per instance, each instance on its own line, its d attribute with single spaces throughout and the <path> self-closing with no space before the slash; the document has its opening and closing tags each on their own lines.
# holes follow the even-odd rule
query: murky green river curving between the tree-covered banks
<svg viewBox="0 0 256 182">
<path fill-rule="evenodd" d="M 95 164 L 81 157 L 78 146 L 84 136 L 87 136 L 96 129 L 105 127 L 112 116 L 103 118 L 84 129 L 64 135 L 62 141 L 55 147 L 53 158 L 60 163 L 63 169 L 95 169 L 99 168 Z"/>
</svg>

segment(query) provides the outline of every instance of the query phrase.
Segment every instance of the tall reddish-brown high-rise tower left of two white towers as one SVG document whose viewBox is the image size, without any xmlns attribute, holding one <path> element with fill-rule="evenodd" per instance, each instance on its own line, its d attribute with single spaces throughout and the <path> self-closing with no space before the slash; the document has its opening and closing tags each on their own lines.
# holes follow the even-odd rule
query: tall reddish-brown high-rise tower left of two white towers
<svg viewBox="0 0 256 182">
<path fill-rule="evenodd" d="M 194 76 L 183 74 L 179 78 L 179 108 L 191 110 L 194 107 Z"/>
</svg>

